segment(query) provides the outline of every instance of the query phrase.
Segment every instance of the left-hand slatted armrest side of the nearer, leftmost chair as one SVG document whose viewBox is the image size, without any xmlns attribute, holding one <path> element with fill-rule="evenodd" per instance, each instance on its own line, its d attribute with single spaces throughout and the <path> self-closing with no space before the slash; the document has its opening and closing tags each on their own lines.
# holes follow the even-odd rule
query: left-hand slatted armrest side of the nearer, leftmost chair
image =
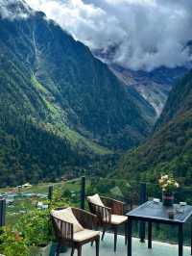
<svg viewBox="0 0 192 256">
<path fill-rule="evenodd" d="M 73 224 L 51 215 L 54 233 L 57 240 L 73 241 Z"/>
</svg>

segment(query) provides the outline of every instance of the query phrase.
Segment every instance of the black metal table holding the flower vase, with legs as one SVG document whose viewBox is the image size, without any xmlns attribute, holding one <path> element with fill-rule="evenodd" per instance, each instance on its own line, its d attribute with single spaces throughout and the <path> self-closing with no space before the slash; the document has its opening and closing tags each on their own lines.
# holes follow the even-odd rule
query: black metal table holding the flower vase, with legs
<svg viewBox="0 0 192 256">
<path fill-rule="evenodd" d="M 175 217 L 169 218 L 168 212 L 175 211 Z M 163 223 L 176 225 L 179 227 L 179 256 L 183 255 L 183 224 L 192 216 L 192 206 L 174 205 L 165 207 L 162 203 L 148 201 L 133 209 L 128 216 L 128 256 L 132 256 L 132 220 L 148 222 L 148 248 L 152 248 L 152 223 Z M 192 224 L 191 224 L 192 226 Z M 192 228 L 191 228 L 192 230 Z M 191 254 L 192 254 L 192 234 L 191 234 Z"/>
</svg>

